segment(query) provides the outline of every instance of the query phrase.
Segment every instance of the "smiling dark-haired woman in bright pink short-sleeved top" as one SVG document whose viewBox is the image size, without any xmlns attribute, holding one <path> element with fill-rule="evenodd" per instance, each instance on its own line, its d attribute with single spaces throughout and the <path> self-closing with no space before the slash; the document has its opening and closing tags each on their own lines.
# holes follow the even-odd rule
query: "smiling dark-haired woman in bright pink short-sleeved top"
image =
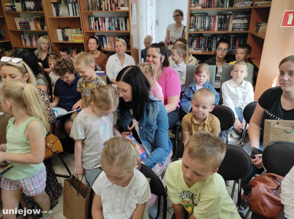
<svg viewBox="0 0 294 219">
<path fill-rule="evenodd" d="M 157 82 L 162 88 L 163 102 L 168 113 L 168 129 L 179 120 L 181 82 L 177 73 L 169 67 L 166 47 L 163 42 L 150 45 L 146 61 L 155 65 Z"/>
</svg>

